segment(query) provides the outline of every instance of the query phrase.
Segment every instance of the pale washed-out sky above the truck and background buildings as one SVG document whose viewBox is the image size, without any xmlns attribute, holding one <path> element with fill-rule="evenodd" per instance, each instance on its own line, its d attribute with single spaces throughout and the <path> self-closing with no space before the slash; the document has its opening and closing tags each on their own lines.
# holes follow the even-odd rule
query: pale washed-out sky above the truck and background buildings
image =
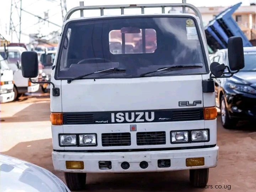
<svg viewBox="0 0 256 192">
<path fill-rule="evenodd" d="M 12 1 L 12 22 L 14 23 L 16 32 L 9 34 L 10 26 L 10 12 Z M 12 42 L 18 42 L 19 36 L 19 15 L 20 5 L 22 9 L 30 12 L 34 15 L 38 15 L 44 18 L 44 12 L 48 12 L 48 20 L 59 26 L 62 26 L 62 12 L 60 7 L 61 0 L 0 0 L 0 34 L 2 34 L 7 40 Z M 66 0 L 67 10 L 75 6 L 79 6 L 80 0 Z M 155 3 L 180 3 L 182 0 L 86 0 L 85 6 L 90 5 L 115 5 L 115 4 L 155 4 Z M 22 4 L 21 4 L 22 2 Z M 187 3 L 193 4 L 197 7 L 201 6 L 231 6 L 238 2 L 242 2 L 242 6 L 250 5 L 250 2 L 256 2 L 256 0 L 187 0 Z M 137 14 L 139 10 L 129 10 L 128 14 Z M 160 9 L 148 9 L 145 13 L 156 13 Z M 160 13 L 160 12 L 159 12 Z M 87 11 L 84 12 L 85 16 L 99 16 L 100 11 Z M 107 15 L 119 14 L 117 10 L 106 11 Z M 65 15 L 65 14 L 64 14 Z M 73 17 L 79 17 L 77 13 Z M 38 17 L 34 17 L 24 11 L 21 12 L 21 42 L 28 43 L 30 33 L 40 33 L 47 36 L 52 31 L 61 31 L 61 27 L 40 20 Z"/>
</svg>

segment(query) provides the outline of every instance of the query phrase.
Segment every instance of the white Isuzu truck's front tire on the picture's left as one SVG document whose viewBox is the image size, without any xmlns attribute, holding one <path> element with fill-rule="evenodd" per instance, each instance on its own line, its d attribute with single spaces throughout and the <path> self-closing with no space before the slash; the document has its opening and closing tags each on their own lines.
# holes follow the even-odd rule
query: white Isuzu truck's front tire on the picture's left
<svg viewBox="0 0 256 192">
<path fill-rule="evenodd" d="M 64 173 L 66 185 L 71 191 L 84 190 L 86 173 Z"/>
</svg>

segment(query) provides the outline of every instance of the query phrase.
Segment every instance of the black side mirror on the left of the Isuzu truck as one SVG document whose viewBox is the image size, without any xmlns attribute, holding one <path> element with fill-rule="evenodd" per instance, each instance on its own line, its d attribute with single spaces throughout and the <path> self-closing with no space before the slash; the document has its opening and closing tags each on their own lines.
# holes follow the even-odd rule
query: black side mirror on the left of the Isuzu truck
<svg viewBox="0 0 256 192">
<path fill-rule="evenodd" d="M 34 51 L 21 53 L 21 71 L 25 78 L 36 78 L 38 75 L 38 57 Z"/>
</svg>

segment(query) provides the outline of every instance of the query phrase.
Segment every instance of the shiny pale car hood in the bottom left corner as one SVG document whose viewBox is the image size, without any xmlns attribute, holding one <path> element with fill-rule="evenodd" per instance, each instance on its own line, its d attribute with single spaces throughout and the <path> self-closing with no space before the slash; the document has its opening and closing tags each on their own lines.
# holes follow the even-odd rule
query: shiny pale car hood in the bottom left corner
<svg viewBox="0 0 256 192">
<path fill-rule="evenodd" d="M 32 163 L 0 154 L 1 192 L 70 192 L 50 171 Z"/>
</svg>

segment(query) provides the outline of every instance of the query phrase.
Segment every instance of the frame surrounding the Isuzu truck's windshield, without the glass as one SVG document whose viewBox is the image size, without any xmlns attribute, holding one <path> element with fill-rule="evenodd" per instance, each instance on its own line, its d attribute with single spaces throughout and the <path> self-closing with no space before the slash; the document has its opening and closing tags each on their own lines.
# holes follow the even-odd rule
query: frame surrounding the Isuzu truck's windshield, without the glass
<svg viewBox="0 0 256 192">
<path fill-rule="evenodd" d="M 200 31 L 200 28 L 201 26 L 198 25 L 197 23 L 197 20 L 196 20 L 196 16 L 194 15 L 170 15 L 170 14 L 159 14 L 159 15 L 122 15 L 122 16 L 107 16 L 107 17 L 95 17 L 95 18 L 82 18 L 82 19 L 74 19 L 74 20 L 70 20 L 70 21 L 67 21 L 65 24 L 64 24 L 64 27 L 63 27 L 63 31 L 61 33 L 61 40 L 60 40 L 60 44 L 59 44 L 59 49 L 58 49 L 58 54 L 57 54 L 57 58 L 56 58 L 56 55 L 55 55 L 55 59 L 54 59 L 54 62 L 56 62 L 56 68 L 55 68 L 55 73 L 54 73 L 54 79 L 56 80 L 68 80 L 70 78 L 64 78 L 64 77 L 59 77 L 58 76 L 58 71 L 60 70 L 60 58 L 62 56 L 62 49 L 63 49 L 63 44 L 64 44 L 64 41 L 65 41 L 65 34 L 68 32 L 68 25 L 70 23 L 76 23 L 76 22 L 86 22 L 86 21 L 95 21 L 95 20 L 110 20 L 110 19 L 118 19 L 118 18 L 137 18 L 137 17 L 182 17 L 182 18 L 191 18 L 193 21 L 194 21 L 194 24 L 196 26 L 196 31 L 197 31 L 197 34 L 198 34 L 198 40 L 200 42 L 200 47 L 201 47 L 201 50 L 202 50 L 202 55 L 203 55 L 203 60 L 204 60 L 204 65 L 205 65 L 205 69 L 206 69 L 206 72 L 201 72 L 201 73 L 175 73 L 175 74 L 158 74 L 158 73 L 154 73 L 154 74 L 150 74 L 150 75 L 147 75 L 145 77 L 155 77 L 155 76 L 158 76 L 158 77 L 162 77 L 162 76 L 183 76 L 183 75 L 205 75 L 205 74 L 209 74 L 209 64 L 208 64 L 208 59 L 207 59 L 207 53 L 206 53 L 206 49 L 207 49 L 207 44 L 206 42 L 204 43 L 203 41 L 203 32 L 201 33 Z M 202 29 L 201 29 L 202 30 Z M 143 77 L 143 78 L 145 78 Z M 137 75 L 137 76 L 126 76 L 126 77 L 106 77 L 106 76 L 103 76 L 103 77 L 97 77 L 97 79 L 130 79 L 130 78 L 140 78 L 140 75 Z M 88 76 L 88 77 L 85 77 L 85 78 L 82 78 L 82 79 L 95 79 L 95 77 L 91 77 L 91 76 Z"/>
</svg>

